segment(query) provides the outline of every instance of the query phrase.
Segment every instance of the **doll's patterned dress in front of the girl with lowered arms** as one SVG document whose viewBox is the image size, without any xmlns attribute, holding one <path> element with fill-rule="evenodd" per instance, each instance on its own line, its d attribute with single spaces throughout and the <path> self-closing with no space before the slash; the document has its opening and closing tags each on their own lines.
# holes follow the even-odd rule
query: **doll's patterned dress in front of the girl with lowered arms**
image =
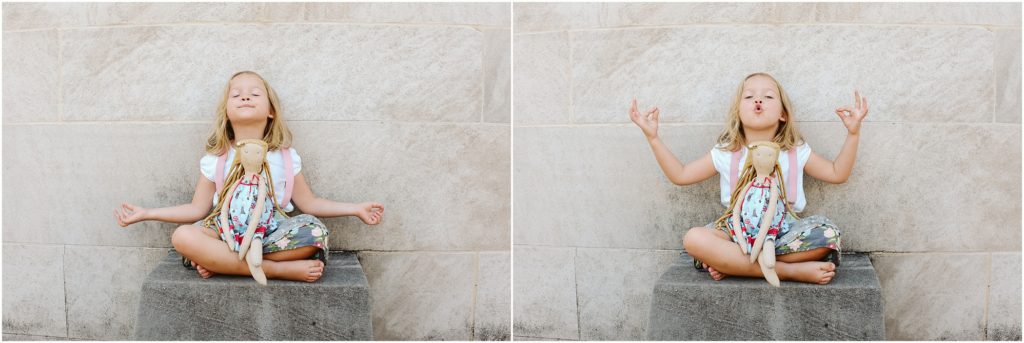
<svg viewBox="0 0 1024 343">
<path fill-rule="evenodd" d="M 256 211 L 256 202 L 259 200 L 259 180 L 261 175 L 254 174 L 248 180 L 243 177 L 234 188 L 234 194 L 227 199 L 228 227 L 220 227 L 220 218 L 216 218 L 216 225 L 220 232 L 220 239 L 231 243 L 231 250 L 239 251 L 242 240 L 245 239 L 246 230 L 249 229 L 249 220 Z M 267 194 L 263 200 L 263 212 L 259 214 L 259 222 L 256 223 L 256 230 L 253 240 L 263 240 L 268 231 L 273 231 L 278 226 L 274 218 L 273 203 L 270 195 Z"/>
</svg>

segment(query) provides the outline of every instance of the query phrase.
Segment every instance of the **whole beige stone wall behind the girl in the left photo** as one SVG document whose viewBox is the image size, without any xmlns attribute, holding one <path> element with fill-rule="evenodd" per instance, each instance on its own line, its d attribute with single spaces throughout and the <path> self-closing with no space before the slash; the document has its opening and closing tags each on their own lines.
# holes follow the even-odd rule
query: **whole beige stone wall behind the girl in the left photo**
<svg viewBox="0 0 1024 343">
<path fill-rule="evenodd" d="M 226 78 L 276 89 L 377 339 L 508 338 L 510 5 L 3 4 L 3 332 L 130 339 Z M 409 299 L 416 299 L 410 301 Z"/>
</svg>

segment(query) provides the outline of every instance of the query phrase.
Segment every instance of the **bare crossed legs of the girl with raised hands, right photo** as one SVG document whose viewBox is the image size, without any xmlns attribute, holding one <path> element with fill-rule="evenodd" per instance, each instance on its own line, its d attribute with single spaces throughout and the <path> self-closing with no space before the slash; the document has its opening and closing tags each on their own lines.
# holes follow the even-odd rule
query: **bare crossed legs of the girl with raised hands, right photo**
<svg viewBox="0 0 1024 343">
<path fill-rule="evenodd" d="M 716 281 L 726 275 L 764 277 L 758 263 L 751 263 L 750 256 L 739 252 L 736 244 L 721 230 L 690 228 L 683 235 L 683 248 L 690 256 L 702 261 Z M 836 265 L 820 261 L 828 252 L 827 248 L 818 248 L 778 255 L 775 257 L 775 271 L 780 280 L 828 284 L 836 275 Z"/>
</svg>

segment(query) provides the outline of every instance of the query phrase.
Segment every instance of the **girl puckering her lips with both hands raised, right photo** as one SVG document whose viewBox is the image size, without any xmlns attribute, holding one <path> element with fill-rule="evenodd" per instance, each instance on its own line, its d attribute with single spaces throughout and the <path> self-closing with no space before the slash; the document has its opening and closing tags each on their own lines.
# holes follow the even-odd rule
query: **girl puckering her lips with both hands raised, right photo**
<svg viewBox="0 0 1024 343">
<path fill-rule="evenodd" d="M 829 183 L 843 183 L 850 177 L 857 156 L 860 139 L 860 124 L 867 116 L 867 99 L 854 91 L 855 105 L 836 109 L 836 115 L 846 126 L 846 142 L 836 161 L 828 161 L 811 152 L 803 141 L 794 123 L 790 99 L 782 86 L 765 73 L 746 76 L 736 91 L 736 97 L 729 110 L 725 131 L 719 136 L 718 144 L 700 159 L 682 164 L 657 136 L 659 110 L 651 108 L 646 114 L 637 111 L 636 99 L 630 109 L 630 119 L 643 131 L 654 152 L 662 171 L 672 183 L 689 185 L 711 178 L 715 173 L 721 176 L 721 202 L 729 205 L 731 181 L 734 168 L 743 161 L 735 161 L 733 155 L 739 152 L 745 159 L 746 145 L 755 141 L 772 141 L 781 146 L 778 162 L 785 183 L 795 182 L 797 199 L 792 203 L 795 212 L 803 211 L 807 204 L 804 198 L 803 173 L 794 173 L 796 180 L 788 179 L 791 149 L 796 149 L 799 169 L 808 175 Z M 785 190 L 783 190 L 785 191 Z M 792 220 L 792 219 L 791 219 Z M 775 270 L 779 278 L 786 281 L 828 284 L 836 275 L 840 256 L 840 231 L 827 218 L 811 216 L 790 222 L 786 231 L 778 233 L 775 242 Z M 726 275 L 764 277 L 757 263 L 751 263 L 749 256 L 735 248 L 728 231 L 714 223 L 703 227 L 690 228 L 683 237 L 683 247 L 694 258 L 695 266 L 707 268 L 711 276 L 722 280 Z M 827 258 L 827 261 L 825 261 Z"/>
</svg>

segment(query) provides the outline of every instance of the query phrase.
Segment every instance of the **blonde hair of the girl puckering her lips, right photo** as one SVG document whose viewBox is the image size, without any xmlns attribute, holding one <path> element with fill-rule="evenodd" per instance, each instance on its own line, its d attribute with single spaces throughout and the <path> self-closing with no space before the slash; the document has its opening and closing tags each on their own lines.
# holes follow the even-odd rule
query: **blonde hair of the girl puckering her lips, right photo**
<svg viewBox="0 0 1024 343">
<path fill-rule="evenodd" d="M 743 78 L 743 81 L 739 83 L 739 87 L 736 88 L 736 97 L 732 100 L 732 105 L 729 108 L 729 118 L 725 123 L 725 131 L 718 136 L 718 144 L 721 148 L 729 152 L 735 152 L 739 149 L 740 146 L 746 144 L 746 133 L 743 132 L 743 125 L 739 121 L 739 102 L 743 98 L 743 84 L 746 80 L 750 80 L 756 76 L 763 76 L 771 79 L 778 87 L 778 96 L 782 101 L 782 118 L 785 119 L 778 126 L 778 130 L 775 131 L 775 136 L 772 137 L 771 141 L 777 143 L 783 151 L 788 151 L 797 145 L 803 143 L 804 138 L 800 135 L 800 131 L 797 130 L 797 123 L 793 119 L 793 104 L 790 103 L 790 96 L 785 94 L 785 90 L 782 89 L 782 85 L 778 83 L 775 78 L 768 73 L 754 73 L 748 75 Z"/>
</svg>

